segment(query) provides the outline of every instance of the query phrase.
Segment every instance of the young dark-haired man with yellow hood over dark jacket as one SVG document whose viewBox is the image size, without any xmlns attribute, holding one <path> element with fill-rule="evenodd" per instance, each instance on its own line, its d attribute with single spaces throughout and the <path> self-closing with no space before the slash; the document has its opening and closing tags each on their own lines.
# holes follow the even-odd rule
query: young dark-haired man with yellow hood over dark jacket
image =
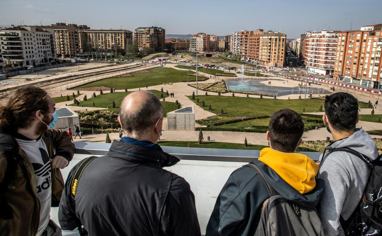
<svg viewBox="0 0 382 236">
<path fill-rule="evenodd" d="M 304 207 L 316 207 L 324 182 L 315 179 L 319 170 L 306 155 L 295 153 L 301 145 L 304 122 L 290 109 L 275 112 L 269 122 L 269 148 L 260 152 L 258 161 L 270 185 L 285 199 Z M 217 197 L 207 224 L 206 236 L 255 234 L 261 207 L 270 196 L 261 176 L 251 167 L 236 169 Z"/>
</svg>

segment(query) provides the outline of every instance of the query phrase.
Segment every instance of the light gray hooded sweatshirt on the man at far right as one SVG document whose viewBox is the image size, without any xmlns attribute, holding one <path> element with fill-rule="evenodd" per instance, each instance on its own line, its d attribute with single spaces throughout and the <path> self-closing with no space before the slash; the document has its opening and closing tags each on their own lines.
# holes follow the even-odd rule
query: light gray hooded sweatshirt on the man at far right
<svg viewBox="0 0 382 236">
<path fill-rule="evenodd" d="M 363 129 L 356 129 L 350 137 L 331 143 L 326 149 L 348 147 L 372 160 L 378 156 L 374 140 Z M 322 159 L 322 155 L 320 160 Z M 345 235 L 340 216 L 347 220 L 363 195 L 371 168 L 358 156 L 344 151 L 325 154 L 320 166 L 319 178 L 324 180 L 324 194 L 320 200 L 320 219 L 325 235 Z"/>
</svg>

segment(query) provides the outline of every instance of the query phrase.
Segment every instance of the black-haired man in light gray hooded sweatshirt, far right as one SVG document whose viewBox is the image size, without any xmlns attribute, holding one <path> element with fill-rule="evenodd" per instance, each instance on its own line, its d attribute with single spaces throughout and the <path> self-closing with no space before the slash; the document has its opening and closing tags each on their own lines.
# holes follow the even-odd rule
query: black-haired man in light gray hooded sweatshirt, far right
<svg viewBox="0 0 382 236">
<path fill-rule="evenodd" d="M 371 168 L 361 158 L 337 148 L 350 148 L 371 160 L 378 156 L 374 140 L 363 129 L 356 129 L 359 120 L 358 101 L 348 93 L 326 96 L 326 129 L 334 142 L 326 146 L 320 157 L 319 178 L 325 182 L 320 201 L 320 219 L 325 235 L 345 235 L 340 218 L 348 220 L 363 195 Z"/>
</svg>

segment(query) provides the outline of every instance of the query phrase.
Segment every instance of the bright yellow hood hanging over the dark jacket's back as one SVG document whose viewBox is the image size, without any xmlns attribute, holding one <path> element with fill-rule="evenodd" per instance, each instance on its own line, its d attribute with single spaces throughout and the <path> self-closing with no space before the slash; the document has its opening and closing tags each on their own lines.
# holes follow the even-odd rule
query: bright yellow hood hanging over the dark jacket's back
<svg viewBox="0 0 382 236">
<path fill-rule="evenodd" d="M 301 194 L 311 191 L 316 186 L 314 177 L 319 168 L 306 155 L 263 148 L 260 151 L 259 161 L 272 168 L 285 182 Z"/>
</svg>

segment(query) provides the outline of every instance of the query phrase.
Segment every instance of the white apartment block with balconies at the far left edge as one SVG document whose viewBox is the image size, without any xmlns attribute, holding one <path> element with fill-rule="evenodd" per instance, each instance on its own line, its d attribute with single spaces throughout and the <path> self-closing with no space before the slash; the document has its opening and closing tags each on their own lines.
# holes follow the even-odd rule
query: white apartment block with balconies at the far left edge
<svg viewBox="0 0 382 236">
<path fill-rule="evenodd" d="M 3 64 L 39 65 L 56 58 L 53 33 L 36 26 L 14 26 L 0 30 Z"/>
</svg>

